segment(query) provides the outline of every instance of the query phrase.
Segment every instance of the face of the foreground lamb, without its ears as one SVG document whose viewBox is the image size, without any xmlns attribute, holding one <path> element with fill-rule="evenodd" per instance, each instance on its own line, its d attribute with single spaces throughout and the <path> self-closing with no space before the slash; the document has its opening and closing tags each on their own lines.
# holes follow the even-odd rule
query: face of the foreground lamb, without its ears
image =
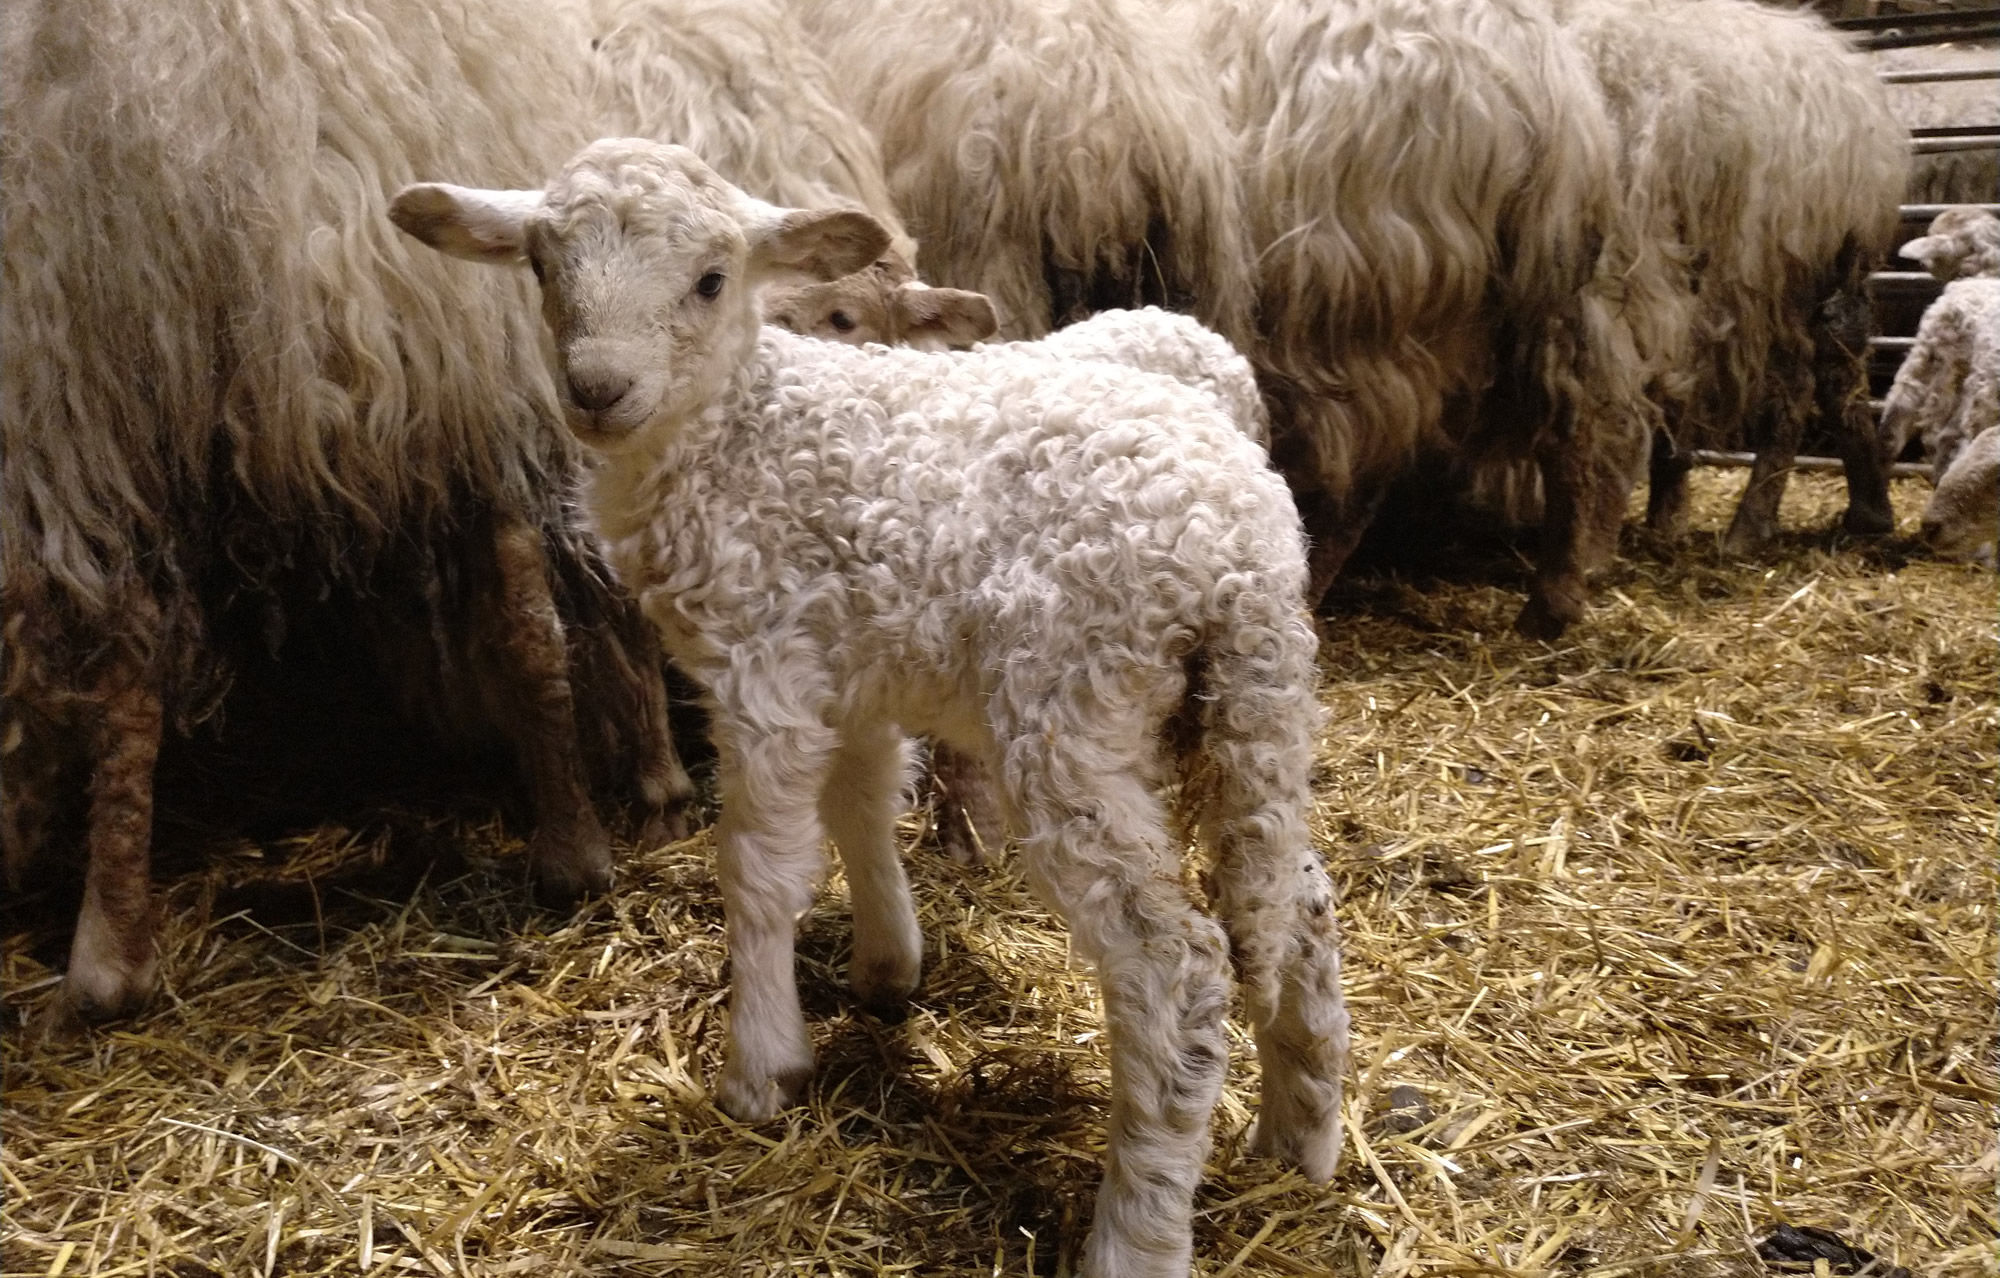
<svg viewBox="0 0 2000 1278">
<path fill-rule="evenodd" d="M 570 428 L 594 446 L 714 402 L 756 342 L 740 196 L 712 172 L 586 150 L 526 224 Z"/>
</svg>

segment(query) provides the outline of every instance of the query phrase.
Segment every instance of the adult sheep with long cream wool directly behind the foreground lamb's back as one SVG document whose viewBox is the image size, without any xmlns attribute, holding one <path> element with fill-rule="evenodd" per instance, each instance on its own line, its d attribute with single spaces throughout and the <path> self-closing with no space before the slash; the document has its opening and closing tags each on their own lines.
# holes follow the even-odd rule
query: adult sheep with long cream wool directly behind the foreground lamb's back
<svg viewBox="0 0 2000 1278">
<path fill-rule="evenodd" d="M 924 280 L 1000 336 L 1118 306 L 1242 340 L 1250 278 L 1228 130 L 1142 0 L 788 0 L 882 140 Z"/>
</svg>

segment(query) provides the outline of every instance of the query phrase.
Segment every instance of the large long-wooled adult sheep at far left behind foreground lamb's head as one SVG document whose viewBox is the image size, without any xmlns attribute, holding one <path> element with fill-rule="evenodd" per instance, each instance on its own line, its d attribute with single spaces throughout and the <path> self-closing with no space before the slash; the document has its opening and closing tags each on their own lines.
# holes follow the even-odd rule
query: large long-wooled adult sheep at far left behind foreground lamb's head
<svg viewBox="0 0 2000 1278">
<path fill-rule="evenodd" d="M 552 896 L 610 876 L 586 764 L 676 828 L 658 646 L 564 510 L 576 452 L 524 358 L 534 300 L 440 270 L 380 214 L 418 170 L 526 180 L 606 122 L 702 122 L 752 186 L 892 216 L 866 132 L 800 106 L 824 70 L 778 58 L 782 14 L 728 8 L 8 10 L 0 844 L 18 878 L 56 810 L 88 806 L 78 1010 L 154 982 L 164 726 L 204 718 L 300 600 L 346 600 L 418 718 L 514 750 Z M 662 90 L 690 66 L 706 104 Z M 484 322 L 446 340 L 442 310 Z"/>
</svg>

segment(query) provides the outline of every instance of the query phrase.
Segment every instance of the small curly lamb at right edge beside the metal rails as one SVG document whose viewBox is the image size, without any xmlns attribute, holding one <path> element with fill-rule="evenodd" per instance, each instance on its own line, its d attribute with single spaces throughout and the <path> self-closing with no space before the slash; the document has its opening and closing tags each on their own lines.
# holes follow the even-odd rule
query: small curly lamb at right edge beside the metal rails
<svg viewBox="0 0 2000 1278">
<path fill-rule="evenodd" d="M 1882 448 L 1896 456 L 1920 436 L 1942 482 L 1976 434 L 2000 426 L 2000 218 L 1948 208 L 1900 252 L 1950 282 L 1882 402 Z"/>
</svg>

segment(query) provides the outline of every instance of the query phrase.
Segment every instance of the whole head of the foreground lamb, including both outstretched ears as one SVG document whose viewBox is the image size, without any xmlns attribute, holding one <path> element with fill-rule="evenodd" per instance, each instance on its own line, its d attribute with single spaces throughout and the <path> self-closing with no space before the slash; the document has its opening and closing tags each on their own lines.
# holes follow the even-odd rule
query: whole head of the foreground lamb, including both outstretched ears
<svg viewBox="0 0 2000 1278">
<path fill-rule="evenodd" d="M 544 190 L 406 186 L 390 218 L 440 252 L 534 270 L 564 414 L 598 448 L 722 396 L 764 284 L 832 280 L 888 246 L 864 212 L 766 204 L 644 138 L 592 142 Z"/>
</svg>

